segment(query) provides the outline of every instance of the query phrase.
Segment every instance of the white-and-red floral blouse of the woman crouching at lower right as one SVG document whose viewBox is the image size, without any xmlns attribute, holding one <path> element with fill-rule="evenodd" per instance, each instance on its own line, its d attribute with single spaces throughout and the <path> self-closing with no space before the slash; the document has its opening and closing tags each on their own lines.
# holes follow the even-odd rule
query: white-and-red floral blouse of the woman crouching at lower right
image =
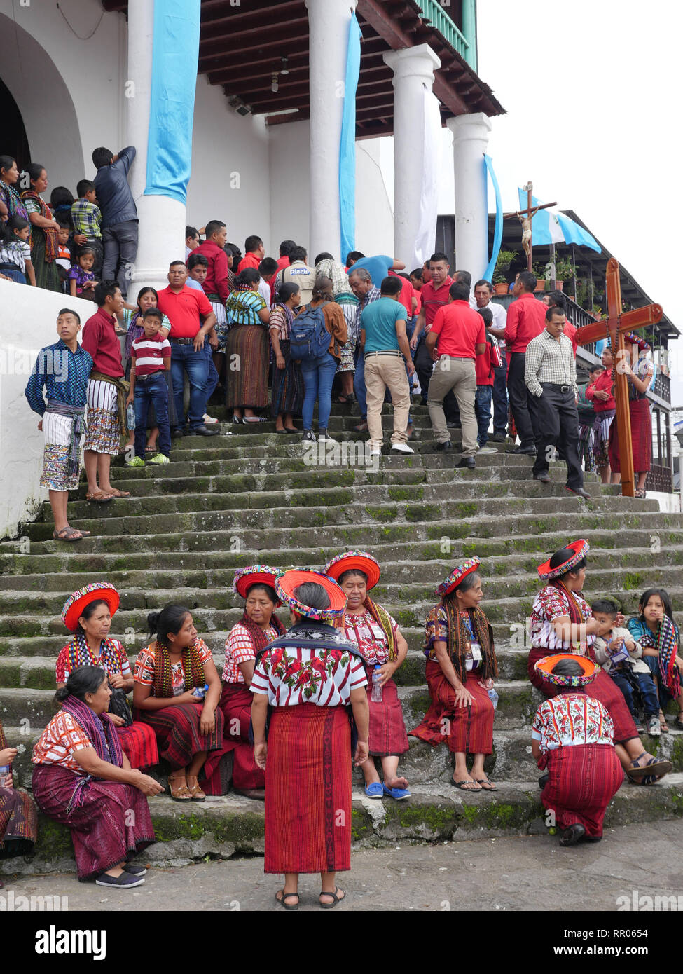
<svg viewBox="0 0 683 974">
<path fill-rule="evenodd" d="M 612 744 L 614 724 L 607 710 L 586 693 L 560 693 L 536 711 L 531 736 L 546 754 L 558 747 Z"/>
</svg>

